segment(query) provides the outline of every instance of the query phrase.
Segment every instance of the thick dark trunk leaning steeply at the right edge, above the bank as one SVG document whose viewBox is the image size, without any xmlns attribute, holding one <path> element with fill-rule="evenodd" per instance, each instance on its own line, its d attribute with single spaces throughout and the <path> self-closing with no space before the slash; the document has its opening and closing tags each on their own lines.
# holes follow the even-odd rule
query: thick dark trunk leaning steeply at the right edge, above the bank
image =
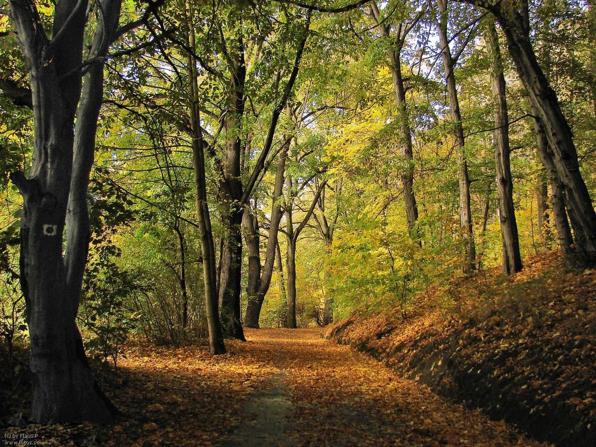
<svg viewBox="0 0 596 447">
<path fill-rule="evenodd" d="M 523 86 L 529 94 L 533 113 L 540 120 L 548 140 L 555 174 L 564 197 L 569 220 L 575 234 L 577 262 L 582 266 L 596 265 L 596 212 L 579 171 L 578 154 L 567 120 L 563 116 L 557 95 L 545 77 L 532 48 L 529 30 L 522 14 L 505 14 L 500 7 L 493 13 L 507 37 L 511 58 Z M 543 160 L 544 162 L 544 160 Z M 545 165 L 546 166 L 546 165 Z M 546 166 L 548 169 L 548 166 Z"/>
</svg>

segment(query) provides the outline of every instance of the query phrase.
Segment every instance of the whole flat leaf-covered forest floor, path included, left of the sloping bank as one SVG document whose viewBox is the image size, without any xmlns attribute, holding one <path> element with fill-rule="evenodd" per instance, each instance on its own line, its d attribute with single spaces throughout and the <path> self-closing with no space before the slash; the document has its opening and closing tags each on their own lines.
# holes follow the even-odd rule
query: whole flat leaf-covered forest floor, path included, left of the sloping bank
<svg viewBox="0 0 596 447">
<path fill-rule="evenodd" d="M 247 330 L 212 357 L 205 346 L 129 346 L 114 426 L 6 427 L 37 445 L 539 445 L 449 403 L 321 329 Z"/>
</svg>

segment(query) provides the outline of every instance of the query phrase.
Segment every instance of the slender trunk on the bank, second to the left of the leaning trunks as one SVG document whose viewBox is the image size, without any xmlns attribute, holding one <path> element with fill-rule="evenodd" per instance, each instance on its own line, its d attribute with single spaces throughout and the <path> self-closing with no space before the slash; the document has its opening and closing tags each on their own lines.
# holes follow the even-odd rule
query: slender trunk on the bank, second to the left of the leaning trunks
<svg viewBox="0 0 596 447">
<path fill-rule="evenodd" d="M 465 264 L 464 272 L 469 273 L 476 268 L 476 246 L 474 244 L 474 232 L 472 226 L 472 212 L 470 200 L 470 176 L 468 175 L 468 162 L 465 156 L 464 128 L 461 121 L 460 103 L 457 97 L 457 83 L 455 83 L 455 61 L 449 49 L 447 36 L 447 0 L 437 0 L 439 6 L 439 18 L 437 30 L 439 31 L 439 42 L 443 55 L 443 66 L 445 66 L 445 80 L 451 108 L 451 121 L 454 132 L 454 151 L 458 157 L 458 179 L 460 182 L 460 225 L 465 239 Z"/>
</svg>

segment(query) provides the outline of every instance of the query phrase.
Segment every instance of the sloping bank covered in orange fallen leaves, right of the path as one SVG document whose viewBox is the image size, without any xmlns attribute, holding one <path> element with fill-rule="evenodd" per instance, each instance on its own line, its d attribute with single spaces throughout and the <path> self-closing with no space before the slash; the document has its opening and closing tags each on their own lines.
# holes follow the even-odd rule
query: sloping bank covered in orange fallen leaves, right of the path
<svg viewBox="0 0 596 447">
<path fill-rule="evenodd" d="M 536 439 L 595 445 L 596 271 L 567 273 L 551 252 L 456 292 L 420 297 L 405 320 L 355 315 L 328 336 Z"/>
</svg>

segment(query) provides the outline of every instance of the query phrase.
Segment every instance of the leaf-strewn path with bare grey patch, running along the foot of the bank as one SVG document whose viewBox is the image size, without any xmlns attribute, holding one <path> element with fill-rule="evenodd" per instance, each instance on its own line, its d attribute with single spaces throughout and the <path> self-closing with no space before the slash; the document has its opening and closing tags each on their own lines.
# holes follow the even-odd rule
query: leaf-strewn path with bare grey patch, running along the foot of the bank
<svg viewBox="0 0 596 447">
<path fill-rule="evenodd" d="M 504 423 L 448 403 L 319 328 L 246 330 L 235 355 L 262 362 L 259 387 L 224 446 L 533 445 Z"/>
</svg>

